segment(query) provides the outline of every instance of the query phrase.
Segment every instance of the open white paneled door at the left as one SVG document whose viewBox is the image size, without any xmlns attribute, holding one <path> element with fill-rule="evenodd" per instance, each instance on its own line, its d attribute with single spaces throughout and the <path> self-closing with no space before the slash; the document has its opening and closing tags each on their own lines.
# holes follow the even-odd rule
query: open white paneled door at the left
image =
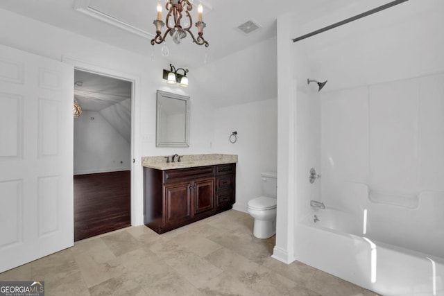
<svg viewBox="0 0 444 296">
<path fill-rule="evenodd" d="M 0 45 L 0 272 L 74 244 L 72 66 Z"/>
</svg>

